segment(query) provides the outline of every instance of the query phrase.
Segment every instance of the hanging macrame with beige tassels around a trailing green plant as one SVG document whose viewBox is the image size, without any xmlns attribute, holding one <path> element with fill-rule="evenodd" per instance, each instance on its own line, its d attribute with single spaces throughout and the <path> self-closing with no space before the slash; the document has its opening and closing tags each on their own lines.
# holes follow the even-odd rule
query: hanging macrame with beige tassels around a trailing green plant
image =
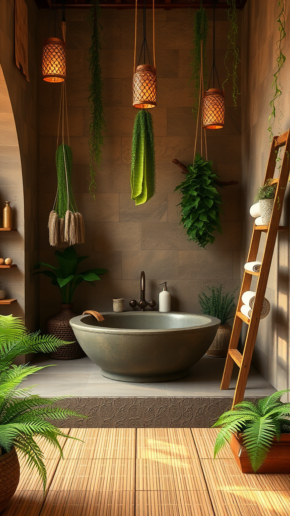
<svg viewBox="0 0 290 516">
<path fill-rule="evenodd" d="M 64 142 L 63 126 L 67 122 L 68 145 Z M 62 121 L 62 143 L 58 145 L 60 120 Z M 61 85 L 60 109 L 58 119 L 57 150 L 57 192 L 49 217 L 50 245 L 70 247 L 84 244 L 85 225 L 82 215 L 77 211 L 71 185 L 72 150 L 70 148 L 66 83 Z"/>
</svg>

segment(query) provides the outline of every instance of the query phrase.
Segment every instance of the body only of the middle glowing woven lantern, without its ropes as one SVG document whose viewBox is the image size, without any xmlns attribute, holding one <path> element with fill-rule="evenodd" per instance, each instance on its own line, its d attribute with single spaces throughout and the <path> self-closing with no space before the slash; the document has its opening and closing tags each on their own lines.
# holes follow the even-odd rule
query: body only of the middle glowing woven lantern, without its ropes
<svg viewBox="0 0 290 516">
<path fill-rule="evenodd" d="M 133 76 L 133 106 L 149 109 L 156 106 L 156 73 L 151 65 L 139 65 Z"/>
</svg>

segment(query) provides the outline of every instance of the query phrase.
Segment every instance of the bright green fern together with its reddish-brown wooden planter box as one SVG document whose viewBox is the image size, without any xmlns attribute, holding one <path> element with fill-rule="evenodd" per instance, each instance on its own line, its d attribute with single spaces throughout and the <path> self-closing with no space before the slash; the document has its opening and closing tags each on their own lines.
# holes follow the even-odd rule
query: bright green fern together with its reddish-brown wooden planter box
<svg viewBox="0 0 290 516">
<path fill-rule="evenodd" d="M 253 404 L 241 401 L 221 414 L 214 457 L 230 442 L 243 473 L 290 473 L 290 404 L 279 391 Z"/>
</svg>

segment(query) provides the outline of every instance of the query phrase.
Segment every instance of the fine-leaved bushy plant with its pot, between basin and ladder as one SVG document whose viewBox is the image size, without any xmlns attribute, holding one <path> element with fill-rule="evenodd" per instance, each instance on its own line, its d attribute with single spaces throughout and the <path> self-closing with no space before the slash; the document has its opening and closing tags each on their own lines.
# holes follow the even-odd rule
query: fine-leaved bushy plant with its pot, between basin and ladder
<svg viewBox="0 0 290 516">
<path fill-rule="evenodd" d="M 203 314 L 211 315 L 220 319 L 220 326 L 218 327 L 215 339 L 206 351 L 210 357 L 226 357 L 230 338 L 232 334 L 232 327 L 228 324 L 229 319 L 233 314 L 235 308 L 234 292 L 222 292 L 222 285 L 219 287 L 207 287 L 211 294 L 207 296 L 204 292 L 199 294 L 199 304 Z"/>
</svg>

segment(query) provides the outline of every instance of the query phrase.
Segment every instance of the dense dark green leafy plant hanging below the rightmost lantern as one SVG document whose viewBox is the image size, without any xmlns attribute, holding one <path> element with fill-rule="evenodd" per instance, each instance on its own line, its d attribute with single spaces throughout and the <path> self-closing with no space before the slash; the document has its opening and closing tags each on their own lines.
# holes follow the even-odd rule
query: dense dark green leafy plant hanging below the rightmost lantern
<svg viewBox="0 0 290 516">
<path fill-rule="evenodd" d="M 219 219 L 220 195 L 215 188 L 217 175 L 212 172 L 213 162 L 205 161 L 196 153 L 194 166 L 188 165 L 186 179 L 174 191 L 182 193 L 181 224 L 186 229 L 188 240 L 200 247 L 213 244 L 213 232 L 222 233 Z"/>
</svg>

